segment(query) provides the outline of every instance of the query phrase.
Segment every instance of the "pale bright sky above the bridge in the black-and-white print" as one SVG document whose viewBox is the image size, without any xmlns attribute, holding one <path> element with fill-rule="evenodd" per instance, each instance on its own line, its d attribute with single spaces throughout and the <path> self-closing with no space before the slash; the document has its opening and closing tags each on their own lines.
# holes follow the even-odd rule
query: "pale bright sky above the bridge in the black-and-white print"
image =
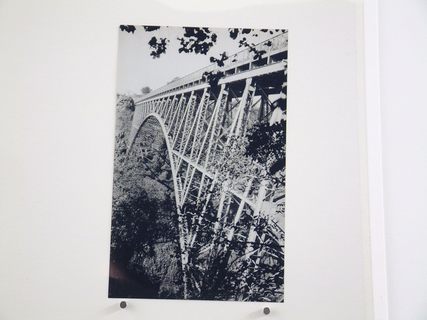
<svg viewBox="0 0 427 320">
<path fill-rule="evenodd" d="M 149 86 L 152 90 L 167 84 L 175 77 L 183 77 L 211 64 L 209 58 L 219 58 L 222 52 L 234 54 L 243 50 L 239 48 L 239 40 L 245 36 L 249 43 L 260 43 L 274 35 L 269 32 L 252 32 L 248 35 L 239 35 L 236 40 L 229 36 L 227 28 L 209 28 L 216 33 L 216 44 L 209 50 L 207 55 L 195 54 L 194 52 L 178 52 L 181 47 L 178 36 L 184 35 L 182 27 L 161 27 L 158 30 L 146 32 L 142 26 L 135 26 L 135 32 L 128 33 L 119 29 L 119 46 L 117 61 L 117 92 L 123 94 L 140 93 L 140 89 Z M 254 37 L 252 34 L 258 34 Z M 166 53 L 160 58 L 153 59 L 148 42 L 152 37 L 167 38 Z"/>
</svg>

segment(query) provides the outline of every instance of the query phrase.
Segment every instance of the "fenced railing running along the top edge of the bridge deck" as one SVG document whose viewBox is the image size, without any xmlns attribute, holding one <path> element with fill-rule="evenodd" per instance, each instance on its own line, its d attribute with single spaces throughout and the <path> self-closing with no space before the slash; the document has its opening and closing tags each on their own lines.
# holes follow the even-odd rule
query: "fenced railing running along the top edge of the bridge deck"
<svg viewBox="0 0 427 320">
<path fill-rule="evenodd" d="M 255 49 L 258 51 L 265 50 L 266 52 L 261 56 L 261 58 L 267 58 L 267 61 L 270 62 L 270 56 L 275 55 L 279 52 L 284 52 L 288 46 L 288 32 L 281 33 L 280 35 L 276 35 L 275 37 L 269 38 L 266 41 L 260 42 L 255 45 Z M 184 87 L 188 87 L 189 84 L 193 85 L 205 82 L 203 78 L 203 74 L 205 72 L 217 72 L 217 71 L 228 71 L 235 70 L 233 72 L 238 73 L 238 67 L 241 67 L 246 64 L 251 64 L 251 62 L 256 61 L 258 59 L 254 59 L 254 52 L 251 52 L 249 48 L 246 48 L 240 52 L 237 52 L 233 55 L 228 56 L 228 58 L 224 61 L 224 66 L 219 67 L 218 64 L 213 63 L 199 69 L 193 73 L 188 74 L 180 79 L 177 79 L 169 84 L 166 84 L 152 92 L 143 96 L 136 103 L 141 101 L 149 100 L 153 97 L 160 96 L 161 94 L 173 92 Z"/>
</svg>

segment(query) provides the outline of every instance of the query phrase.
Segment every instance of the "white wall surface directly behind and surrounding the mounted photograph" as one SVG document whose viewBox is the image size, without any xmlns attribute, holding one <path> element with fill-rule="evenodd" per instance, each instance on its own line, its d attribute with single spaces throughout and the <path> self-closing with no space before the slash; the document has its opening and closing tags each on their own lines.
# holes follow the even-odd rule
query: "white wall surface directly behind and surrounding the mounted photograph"
<svg viewBox="0 0 427 320">
<path fill-rule="evenodd" d="M 0 1 L 1 319 L 369 318 L 362 8 L 212 3 Z M 128 23 L 290 30 L 285 303 L 268 316 L 265 303 L 107 298 Z"/>
</svg>

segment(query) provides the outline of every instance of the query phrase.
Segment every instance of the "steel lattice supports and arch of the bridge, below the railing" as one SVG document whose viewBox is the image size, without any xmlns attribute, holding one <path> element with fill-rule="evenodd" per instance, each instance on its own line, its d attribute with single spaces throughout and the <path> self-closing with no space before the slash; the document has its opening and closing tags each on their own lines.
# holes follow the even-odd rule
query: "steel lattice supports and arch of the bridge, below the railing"
<svg viewBox="0 0 427 320">
<path fill-rule="evenodd" d="M 283 299 L 284 214 L 278 208 L 283 204 L 284 190 L 256 177 L 240 179 L 245 186 L 243 191 L 216 185 L 215 164 L 222 157 L 224 146 L 231 137 L 243 136 L 255 122 L 269 118 L 269 96 L 281 89 L 272 92 L 271 87 L 277 84 L 278 77 L 283 79 L 287 74 L 286 61 L 272 61 L 254 69 L 257 70 L 253 73 L 242 72 L 240 79 L 238 74 L 231 75 L 232 81 L 225 76 L 216 88 L 195 85 L 193 90 L 176 90 L 141 101 L 135 108 L 128 157 L 140 154 L 134 150 L 135 139 L 146 135 L 146 141 L 152 141 L 151 150 L 159 154 L 167 151 L 171 165 L 185 298 L 192 298 L 191 292 L 209 296 L 209 281 L 218 276 L 210 269 L 215 262 L 240 272 L 236 300 L 258 299 L 261 286 L 276 286 L 277 294 L 267 300 Z M 147 128 L 155 132 L 152 140 L 147 140 Z M 156 158 L 146 149 L 144 152 L 147 161 L 165 158 Z M 220 190 L 216 216 L 209 218 L 207 203 L 215 201 L 215 189 Z M 191 212 L 189 208 L 195 205 L 202 209 Z M 212 230 L 209 239 L 203 236 L 207 228 Z M 242 246 L 236 249 L 233 243 Z M 278 265 L 272 268 L 276 273 L 258 275 L 260 263 Z"/>
</svg>

